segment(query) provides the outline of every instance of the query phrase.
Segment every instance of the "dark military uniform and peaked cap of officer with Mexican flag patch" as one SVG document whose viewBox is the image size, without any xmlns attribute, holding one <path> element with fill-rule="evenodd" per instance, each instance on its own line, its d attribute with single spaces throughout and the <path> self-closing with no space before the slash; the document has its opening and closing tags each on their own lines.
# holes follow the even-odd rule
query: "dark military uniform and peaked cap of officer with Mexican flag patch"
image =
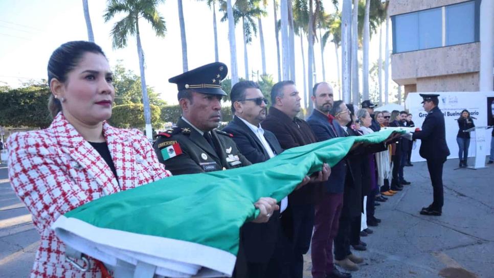
<svg viewBox="0 0 494 278">
<path fill-rule="evenodd" d="M 192 89 L 206 95 L 226 96 L 221 80 L 225 64 L 215 62 L 170 78 L 178 90 Z M 237 149 L 232 134 L 213 129 L 201 131 L 181 117 L 176 127 L 158 134 L 154 151 L 173 175 L 212 172 L 251 165 Z"/>
</svg>

